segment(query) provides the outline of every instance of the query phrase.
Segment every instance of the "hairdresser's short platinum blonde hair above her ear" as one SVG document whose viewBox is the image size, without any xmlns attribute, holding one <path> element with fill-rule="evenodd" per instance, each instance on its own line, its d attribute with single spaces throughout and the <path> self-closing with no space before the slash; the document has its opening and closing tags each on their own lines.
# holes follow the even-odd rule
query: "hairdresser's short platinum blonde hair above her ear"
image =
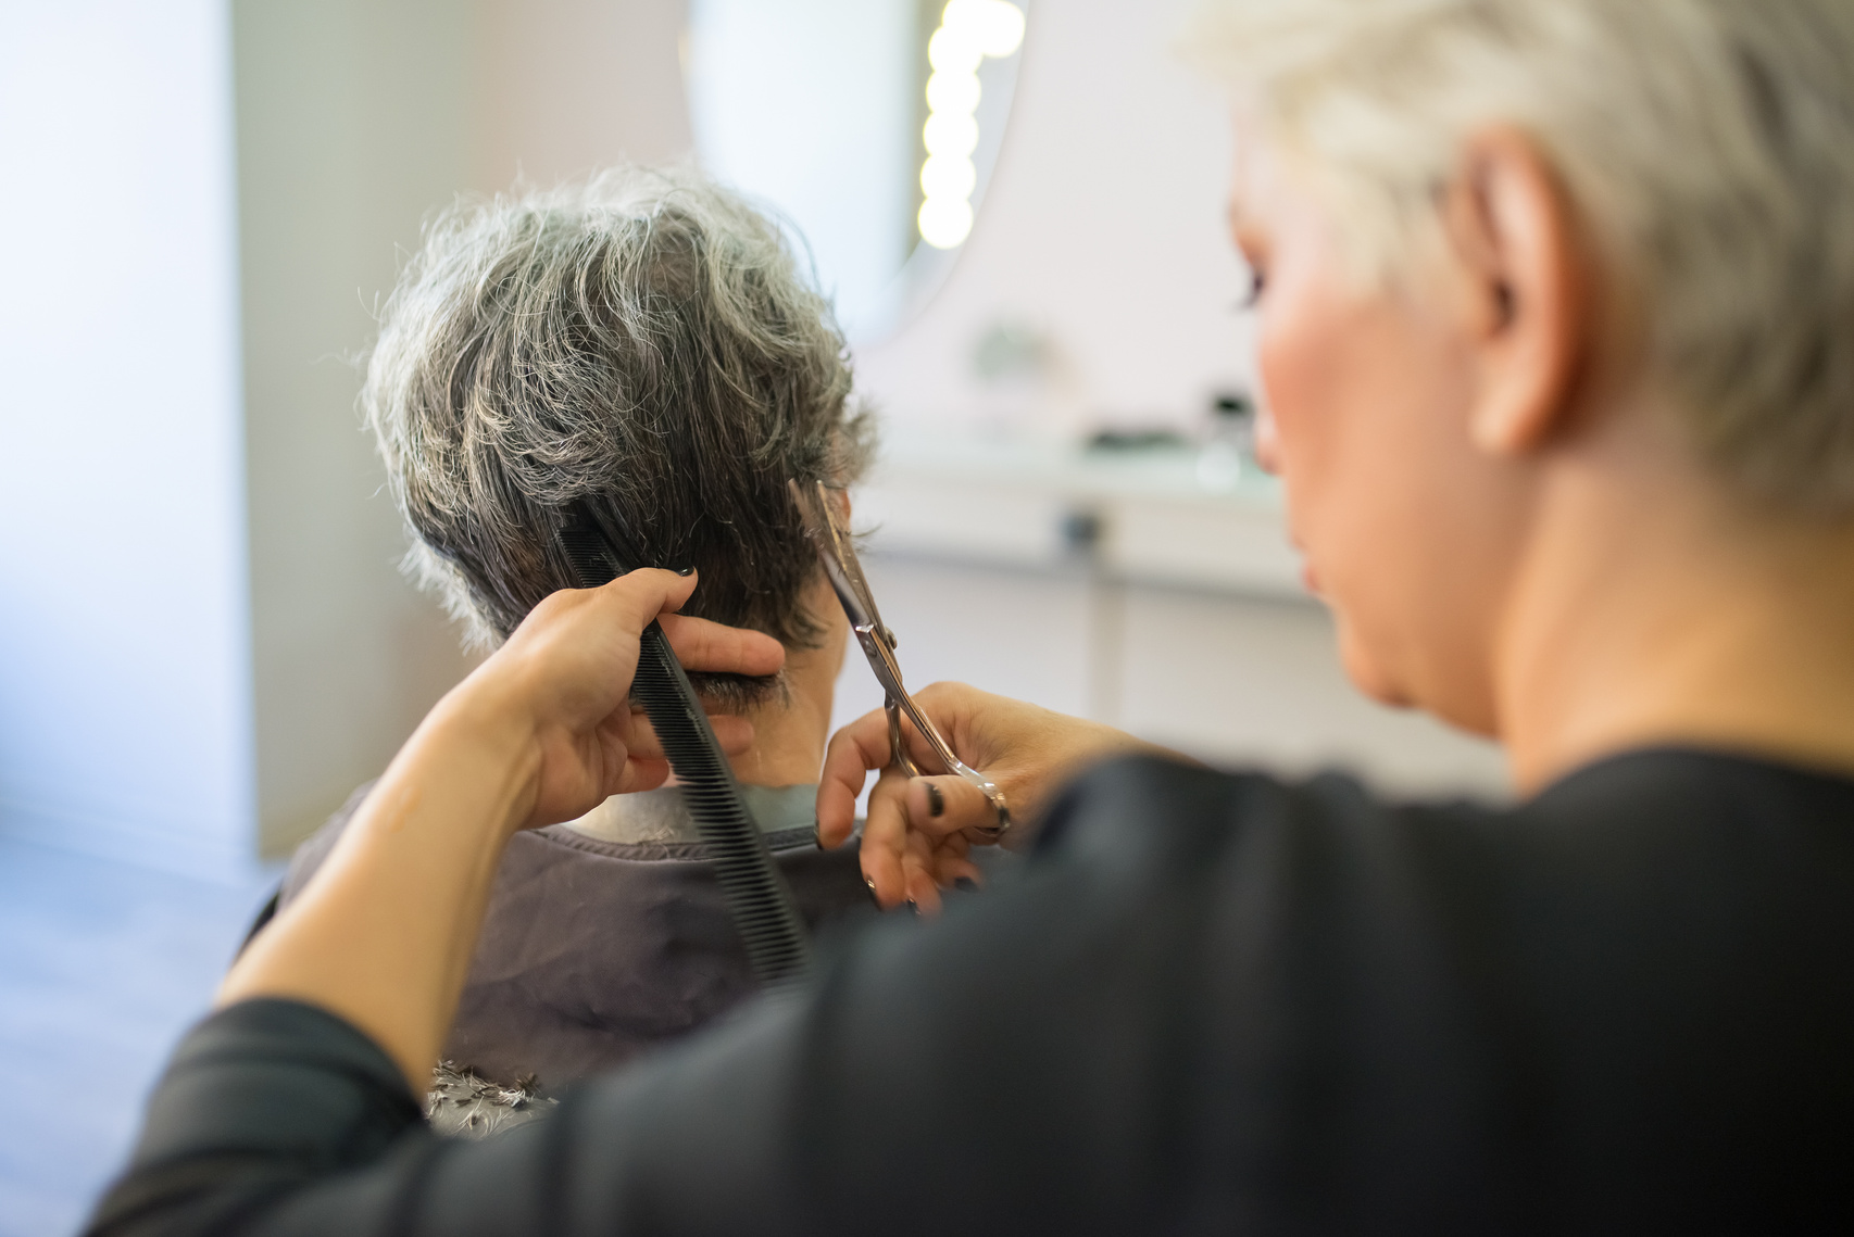
<svg viewBox="0 0 1854 1237">
<path fill-rule="evenodd" d="M 1854 4 L 1209 0 L 1185 52 L 1298 156 L 1366 280 L 1439 239 L 1472 128 L 1528 131 L 1644 306 L 1700 457 L 1854 513 Z"/>
</svg>

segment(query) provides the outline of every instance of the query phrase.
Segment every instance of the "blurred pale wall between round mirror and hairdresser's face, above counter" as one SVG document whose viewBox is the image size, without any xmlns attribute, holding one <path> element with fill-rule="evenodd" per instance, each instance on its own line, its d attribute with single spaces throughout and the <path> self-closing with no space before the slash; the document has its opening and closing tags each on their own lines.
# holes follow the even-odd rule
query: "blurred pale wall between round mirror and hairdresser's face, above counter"
<svg viewBox="0 0 1854 1237">
<path fill-rule="evenodd" d="M 971 239 L 927 309 L 858 350 L 890 417 L 1188 422 L 1248 372 L 1224 228 L 1231 137 L 1213 87 L 1168 52 L 1183 0 L 1036 0 L 1005 144 Z M 1044 331 L 1055 391 L 1020 407 L 971 369 L 997 322 Z"/>
</svg>

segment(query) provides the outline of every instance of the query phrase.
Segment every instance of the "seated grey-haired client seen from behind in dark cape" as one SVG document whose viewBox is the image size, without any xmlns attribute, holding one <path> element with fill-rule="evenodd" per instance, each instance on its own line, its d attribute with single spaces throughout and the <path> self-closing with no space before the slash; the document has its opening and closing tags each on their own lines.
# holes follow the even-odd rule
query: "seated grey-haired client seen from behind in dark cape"
<svg viewBox="0 0 1854 1237">
<path fill-rule="evenodd" d="M 755 726 L 734 772 L 814 926 L 868 891 L 855 846 L 814 846 L 847 624 L 786 478 L 842 487 L 868 461 L 845 356 L 771 222 L 692 172 L 623 169 L 438 219 L 362 394 L 408 565 L 478 644 L 573 587 L 556 531 L 584 502 L 643 563 L 701 572 L 686 613 L 786 646 L 777 678 L 692 678 Z M 284 900 L 363 794 L 302 846 Z M 751 987 L 682 793 L 614 796 L 510 843 L 445 1048 L 465 1074 L 445 1085 L 469 1111 L 458 1087 L 554 1087 Z"/>
</svg>

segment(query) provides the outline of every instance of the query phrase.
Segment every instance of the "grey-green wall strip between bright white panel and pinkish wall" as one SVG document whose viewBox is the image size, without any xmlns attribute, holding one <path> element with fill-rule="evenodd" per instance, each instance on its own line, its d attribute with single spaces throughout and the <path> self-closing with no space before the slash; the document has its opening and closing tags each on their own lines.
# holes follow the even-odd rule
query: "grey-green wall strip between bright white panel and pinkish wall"
<svg viewBox="0 0 1854 1237">
<path fill-rule="evenodd" d="M 267 852 L 380 772 L 462 659 L 399 576 L 354 363 L 469 178 L 467 6 L 234 0 L 258 811 Z"/>
</svg>

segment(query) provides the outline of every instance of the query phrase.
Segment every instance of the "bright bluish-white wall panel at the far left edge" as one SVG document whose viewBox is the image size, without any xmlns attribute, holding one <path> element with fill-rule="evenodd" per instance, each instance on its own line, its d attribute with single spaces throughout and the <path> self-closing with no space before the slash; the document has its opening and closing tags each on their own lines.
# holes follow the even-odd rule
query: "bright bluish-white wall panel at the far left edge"
<svg viewBox="0 0 1854 1237">
<path fill-rule="evenodd" d="M 217 0 L 0 6 L 0 830 L 250 854 Z"/>
</svg>

